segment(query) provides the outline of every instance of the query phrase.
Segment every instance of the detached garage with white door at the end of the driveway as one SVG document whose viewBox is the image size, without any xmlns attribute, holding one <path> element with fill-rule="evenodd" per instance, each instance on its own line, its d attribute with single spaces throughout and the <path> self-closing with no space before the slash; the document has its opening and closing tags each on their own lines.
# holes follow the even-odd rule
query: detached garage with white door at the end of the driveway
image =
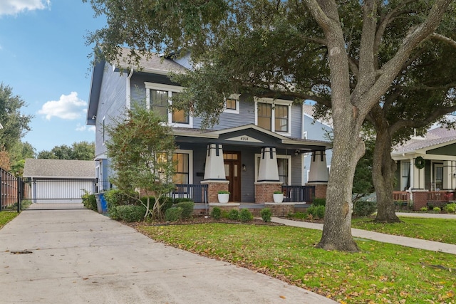
<svg viewBox="0 0 456 304">
<path fill-rule="evenodd" d="M 95 193 L 95 161 L 26 159 L 24 182 L 34 204 L 82 203 L 84 192 Z"/>
</svg>

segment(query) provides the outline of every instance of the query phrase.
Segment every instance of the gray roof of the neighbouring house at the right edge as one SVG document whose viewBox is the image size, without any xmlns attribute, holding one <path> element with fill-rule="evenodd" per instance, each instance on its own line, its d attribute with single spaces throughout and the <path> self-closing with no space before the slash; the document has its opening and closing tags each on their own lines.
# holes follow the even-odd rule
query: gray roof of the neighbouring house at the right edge
<svg viewBox="0 0 456 304">
<path fill-rule="evenodd" d="M 445 127 L 436 127 L 432 130 L 427 131 L 425 137 L 413 137 L 408 142 L 405 142 L 404 145 L 396 147 L 391 154 L 410 153 L 416 152 L 418 150 L 425 152 L 442 145 L 448 145 L 455 141 L 455 129 L 448 130 Z"/>
</svg>

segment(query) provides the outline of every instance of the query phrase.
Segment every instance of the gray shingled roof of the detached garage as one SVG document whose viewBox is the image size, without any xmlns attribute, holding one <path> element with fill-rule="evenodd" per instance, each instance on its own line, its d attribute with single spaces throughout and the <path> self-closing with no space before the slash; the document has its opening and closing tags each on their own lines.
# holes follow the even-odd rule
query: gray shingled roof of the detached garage
<svg viewBox="0 0 456 304">
<path fill-rule="evenodd" d="M 24 177 L 95 178 L 95 161 L 71 159 L 26 159 Z"/>
</svg>

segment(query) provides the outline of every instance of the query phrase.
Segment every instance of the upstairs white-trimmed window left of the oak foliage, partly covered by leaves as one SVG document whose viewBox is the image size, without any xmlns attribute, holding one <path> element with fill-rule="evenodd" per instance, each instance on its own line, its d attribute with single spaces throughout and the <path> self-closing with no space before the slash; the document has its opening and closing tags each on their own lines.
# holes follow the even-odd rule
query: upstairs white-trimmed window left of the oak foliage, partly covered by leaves
<svg viewBox="0 0 456 304">
<path fill-rule="evenodd" d="M 192 127 L 192 117 L 188 111 L 172 110 L 172 96 L 180 93 L 181 87 L 176 85 L 160 85 L 145 83 L 146 107 L 165 118 L 165 121 L 177 127 Z"/>
</svg>

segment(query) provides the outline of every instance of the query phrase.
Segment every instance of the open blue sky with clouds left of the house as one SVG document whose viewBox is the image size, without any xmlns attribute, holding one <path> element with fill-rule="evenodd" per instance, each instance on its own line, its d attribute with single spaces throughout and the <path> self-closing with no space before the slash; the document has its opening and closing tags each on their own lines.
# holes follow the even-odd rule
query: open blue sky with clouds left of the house
<svg viewBox="0 0 456 304">
<path fill-rule="evenodd" d="M 0 1 L 0 83 L 34 116 L 22 140 L 36 152 L 95 140 L 86 125 L 92 46 L 85 36 L 104 25 L 81 0 Z"/>
</svg>

